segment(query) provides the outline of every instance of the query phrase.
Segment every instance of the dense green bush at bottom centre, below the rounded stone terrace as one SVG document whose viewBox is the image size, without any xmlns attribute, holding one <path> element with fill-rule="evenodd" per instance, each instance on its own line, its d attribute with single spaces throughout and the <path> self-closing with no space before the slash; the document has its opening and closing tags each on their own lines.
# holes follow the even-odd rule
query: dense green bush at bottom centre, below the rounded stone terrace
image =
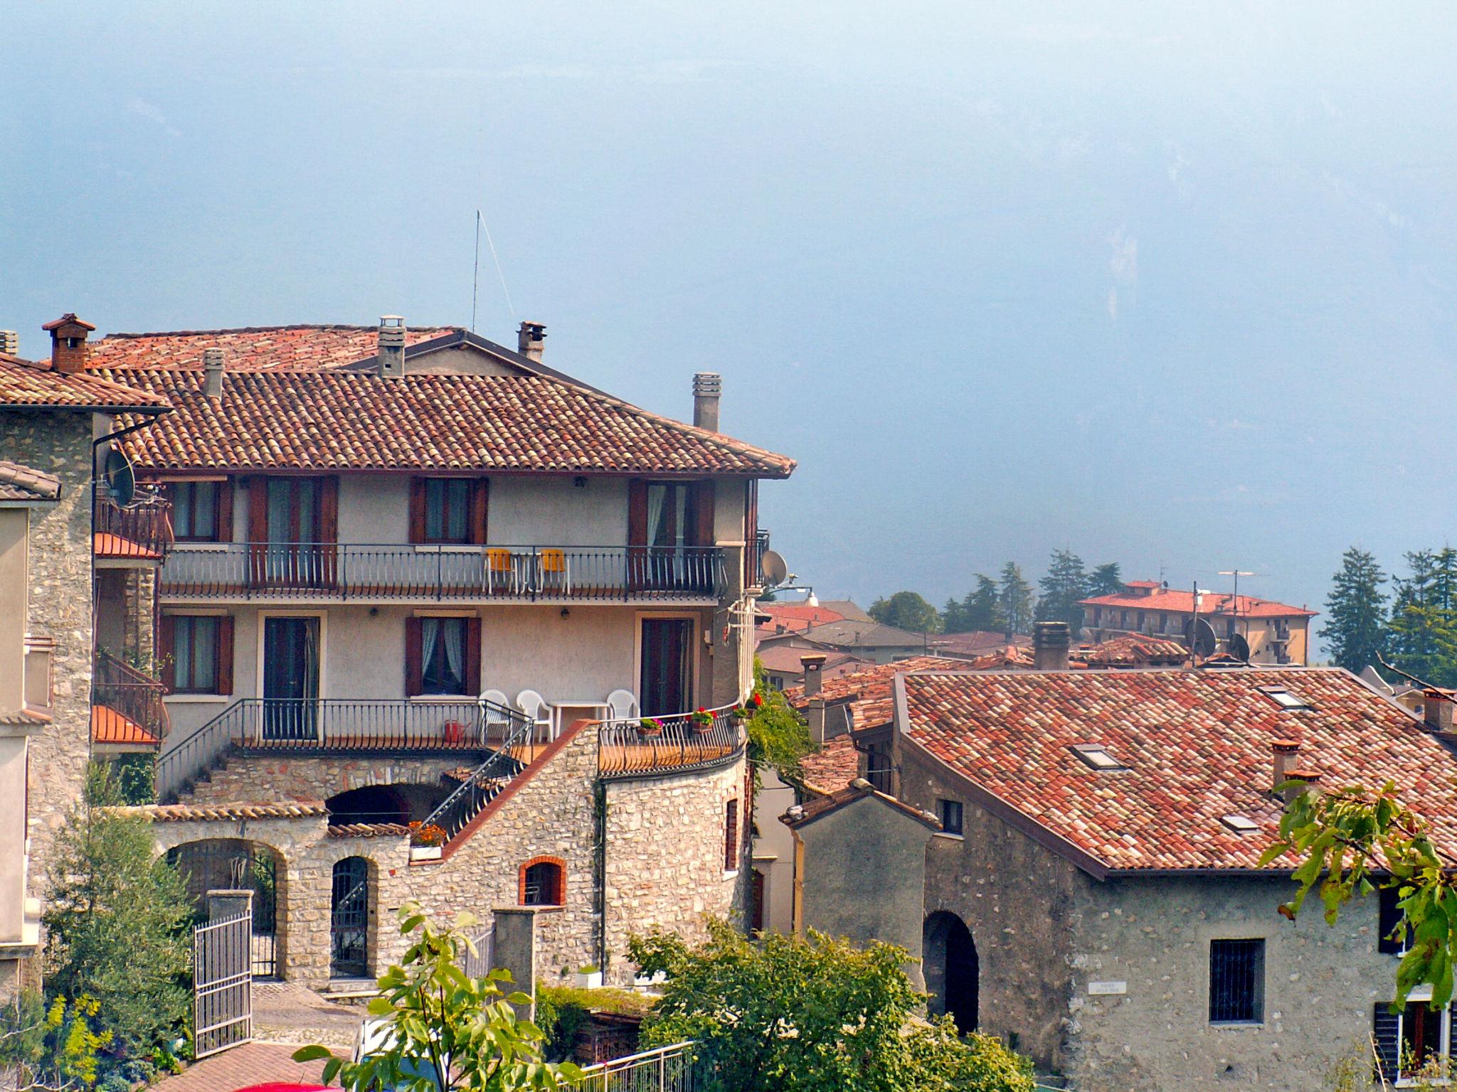
<svg viewBox="0 0 1457 1092">
<path fill-rule="evenodd" d="M 628 942 L 644 974 L 663 971 L 648 1045 L 696 1040 L 708 1092 L 1032 1092 L 1032 1066 L 950 1018 L 918 1019 L 925 994 L 887 943 L 822 933 L 750 941 L 726 922 L 689 946 L 654 932 Z"/>
</svg>

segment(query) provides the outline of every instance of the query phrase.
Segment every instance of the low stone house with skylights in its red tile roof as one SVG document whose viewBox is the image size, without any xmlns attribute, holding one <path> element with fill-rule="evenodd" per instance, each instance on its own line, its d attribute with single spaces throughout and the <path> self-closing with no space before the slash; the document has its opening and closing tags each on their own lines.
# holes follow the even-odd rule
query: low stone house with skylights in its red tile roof
<svg viewBox="0 0 1457 1092">
<path fill-rule="evenodd" d="M 1292 862 L 1259 856 L 1291 778 L 1390 779 L 1457 852 L 1450 696 L 1426 724 L 1332 668 L 1045 670 L 902 674 L 892 705 L 868 735 L 909 814 L 865 780 L 791 811 L 796 913 L 908 948 L 934 1012 L 1090 1091 L 1321 1088 L 1372 1037 L 1397 1082 L 1447 1051 L 1450 1010 L 1387 1010 L 1394 906 L 1288 922 Z"/>
</svg>

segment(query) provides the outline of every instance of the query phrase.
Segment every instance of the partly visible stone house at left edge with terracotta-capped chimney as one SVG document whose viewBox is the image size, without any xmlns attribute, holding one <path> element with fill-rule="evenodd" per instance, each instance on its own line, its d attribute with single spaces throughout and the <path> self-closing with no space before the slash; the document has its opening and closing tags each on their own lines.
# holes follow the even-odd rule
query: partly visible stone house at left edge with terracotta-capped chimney
<svg viewBox="0 0 1457 1092">
<path fill-rule="evenodd" d="M 92 753 L 92 479 L 117 415 L 166 403 L 83 374 L 89 328 L 50 323 L 51 360 L 0 345 L 0 996 L 38 984 L 41 885 Z"/>
</svg>

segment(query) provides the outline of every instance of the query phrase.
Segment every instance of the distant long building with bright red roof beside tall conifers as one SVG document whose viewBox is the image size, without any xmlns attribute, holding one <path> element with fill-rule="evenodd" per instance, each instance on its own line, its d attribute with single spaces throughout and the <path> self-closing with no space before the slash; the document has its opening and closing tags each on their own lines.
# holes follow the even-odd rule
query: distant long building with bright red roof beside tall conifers
<svg viewBox="0 0 1457 1092">
<path fill-rule="evenodd" d="M 1134 579 L 1118 596 L 1094 596 L 1083 600 L 1084 628 L 1091 641 L 1107 641 L 1120 633 L 1185 638 L 1198 616 L 1214 628 L 1221 652 L 1228 652 L 1234 636 L 1243 638 L 1252 664 L 1308 662 L 1310 619 L 1314 610 L 1291 607 L 1285 603 L 1170 588 L 1167 582 Z"/>
</svg>

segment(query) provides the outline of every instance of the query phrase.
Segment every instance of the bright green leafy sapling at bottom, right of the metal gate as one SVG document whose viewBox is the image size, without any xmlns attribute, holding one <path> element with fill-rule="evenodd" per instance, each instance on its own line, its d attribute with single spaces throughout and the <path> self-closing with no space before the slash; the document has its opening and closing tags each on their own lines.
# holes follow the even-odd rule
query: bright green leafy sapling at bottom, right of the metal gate
<svg viewBox="0 0 1457 1092">
<path fill-rule="evenodd" d="M 546 1064 L 546 1037 L 513 1005 L 530 1005 L 525 993 L 506 994 L 507 971 L 471 978 L 462 954 L 475 951 L 465 930 L 472 914 L 457 914 L 449 929 L 436 929 L 418 903 L 399 907 L 399 932 L 420 933 L 405 958 L 379 978 L 380 996 L 369 1013 L 385 1022 L 380 1048 L 363 1061 L 345 1061 L 328 1047 L 294 1051 L 296 1061 L 326 1059 L 323 1083 L 335 1079 L 356 1092 L 389 1088 L 408 1092 L 517 1092 L 557 1089 L 581 1076 L 571 1063 Z"/>
</svg>

